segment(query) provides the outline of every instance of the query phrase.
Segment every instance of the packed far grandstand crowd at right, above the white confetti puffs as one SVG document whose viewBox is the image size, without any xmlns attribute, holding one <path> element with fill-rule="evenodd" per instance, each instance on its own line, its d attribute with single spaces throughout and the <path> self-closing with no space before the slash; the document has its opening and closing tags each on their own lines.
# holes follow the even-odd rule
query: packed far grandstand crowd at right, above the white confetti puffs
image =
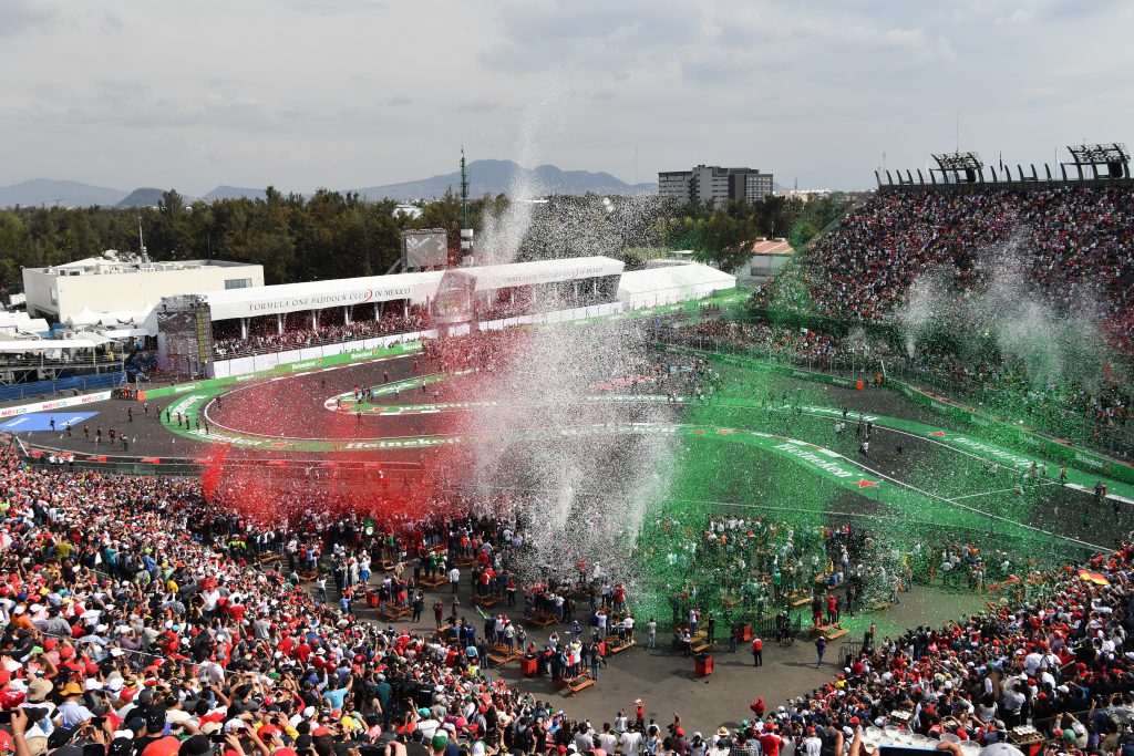
<svg viewBox="0 0 1134 756">
<path fill-rule="evenodd" d="M 981 286 L 987 271 L 978 261 L 1009 243 L 1036 290 L 1064 308 L 1094 303 L 1129 346 L 1134 190 L 1128 186 L 879 193 L 806 253 L 806 286 L 821 313 L 883 321 L 926 271 L 946 271 L 960 289 Z"/>
</svg>

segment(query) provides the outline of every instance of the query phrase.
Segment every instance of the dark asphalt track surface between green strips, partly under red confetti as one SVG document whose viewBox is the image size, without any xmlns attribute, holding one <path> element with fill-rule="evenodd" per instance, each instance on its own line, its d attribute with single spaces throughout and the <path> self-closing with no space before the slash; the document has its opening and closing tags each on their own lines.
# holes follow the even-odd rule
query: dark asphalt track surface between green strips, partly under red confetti
<svg viewBox="0 0 1134 756">
<path fill-rule="evenodd" d="M 406 381 L 421 375 L 429 374 L 430 366 L 424 358 L 418 358 L 420 371 L 414 371 L 414 358 L 412 356 L 397 357 L 373 362 L 367 364 L 344 366 L 330 369 L 316 369 L 308 373 L 301 373 L 285 379 L 264 380 L 242 387 L 229 389 L 218 398 L 210 398 L 201 408 L 203 418 L 208 418 L 211 430 L 217 432 L 221 428 L 230 428 L 235 432 L 253 434 L 261 438 L 291 438 L 291 439 L 399 439 L 415 438 L 423 435 L 447 434 L 459 431 L 462 418 L 468 419 L 466 411 L 443 411 L 435 414 L 404 414 L 404 415 L 378 415 L 364 414 L 356 417 L 349 411 L 331 411 L 327 408 L 328 400 L 336 394 L 353 392 L 355 385 L 381 387 L 387 380 L 390 383 Z M 477 399 L 496 399 L 506 401 L 506 398 L 492 397 L 491 376 L 458 376 L 446 381 L 428 385 L 425 391 L 420 388 L 401 391 L 397 397 L 391 393 L 381 396 L 375 400 L 380 405 L 413 406 L 423 404 L 448 404 L 462 402 Z M 877 414 L 894 418 L 903 418 L 923 423 L 926 425 L 938 425 L 947 427 L 940 417 L 924 409 L 896 392 L 882 389 L 868 389 L 856 391 L 838 387 L 821 387 L 815 383 L 799 381 L 790 377 L 781 377 L 775 391 L 785 391 L 788 394 L 798 392 L 811 397 L 813 401 L 821 401 L 829 407 L 848 407 L 850 416 L 854 418 L 858 411 Z M 549 398 L 549 401 L 552 401 Z M 116 428 L 116 435 L 124 431 L 129 441 L 128 456 L 133 458 L 169 459 L 193 458 L 205 459 L 215 453 L 219 444 L 213 442 L 202 442 L 191 435 L 176 434 L 170 428 L 163 426 L 155 417 L 159 407 L 164 411 L 170 405 L 178 402 L 178 398 L 167 398 L 166 405 L 158 401 L 150 402 L 149 415 L 142 411 L 142 406 L 137 402 L 122 400 L 110 400 L 85 406 L 87 411 L 96 411 L 98 415 L 91 418 L 87 424 L 91 436 L 82 432 L 82 426 L 73 428 L 71 436 L 57 432 L 31 432 L 20 434 L 25 440 L 35 444 L 53 448 L 62 448 L 81 455 L 105 456 L 108 459 L 122 457 L 124 451 L 120 444 L 111 448 L 107 440 L 108 431 Z M 127 408 L 133 408 L 134 421 L 127 418 Z M 565 413 L 555 413 L 555 421 L 562 423 Z M 619 408 L 621 416 L 627 421 L 655 422 L 655 423 L 680 423 L 683 408 L 666 404 L 642 404 L 627 405 Z M 739 410 L 738 410 L 739 411 Z M 591 416 L 587 404 L 579 399 L 576 406 L 566 413 L 570 422 L 579 425 L 587 425 Z M 609 413 L 606 413 L 609 418 Z M 743 417 L 743 416 L 738 416 Z M 550 419 L 541 414 L 539 407 L 533 407 L 524 416 L 523 425 L 530 428 L 540 428 L 545 419 Z M 730 418 L 731 419 L 731 418 Z M 758 410 L 752 410 L 751 422 L 737 419 L 736 427 L 767 428 L 767 421 L 761 417 Z M 836 436 L 830 427 L 833 418 L 812 418 L 811 425 L 806 427 L 773 428 L 777 433 L 786 436 L 794 436 L 812 443 L 822 444 L 833 451 L 839 452 L 850 462 L 868 466 L 879 476 L 891 478 L 895 482 L 916 483 L 928 493 L 940 495 L 946 500 L 957 501 L 958 504 L 982 509 L 990 507 L 993 498 L 1002 493 L 1004 489 L 1010 487 L 1010 478 L 1002 482 L 993 481 L 984 490 L 964 491 L 934 491 L 934 472 L 926 475 L 925 470 L 919 470 L 920 465 L 926 460 L 963 459 L 963 452 L 943 449 L 941 444 L 931 439 L 921 438 L 915 434 L 902 433 L 886 428 L 883 425 L 875 425 L 875 436 L 872 440 L 871 456 L 862 459 L 856 453 L 857 441 L 853 433 L 843 438 Z M 853 426 L 853 423 L 852 423 Z M 103 443 L 94 443 L 96 427 L 103 428 Z M 570 439 L 547 439 L 543 441 L 525 441 L 524 443 L 575 443 Z M 897 450 L 898 443 L 903 450 Z M 522 455 L 522 445 L 514 444 L 516 453 Z M 270 450 L 257 450 L 261 457 L 271 457 Z M 366 459 L 401 466 L 407 472 L 413 468 L 421 468 L 430 461 L 430 456 L 435 450 L 426 449 L 383 449 L 381 451 L 367 451 L 356 456 L 337 453 L 333 456 L 319 455 L 312 452 L 297 458 L 295 455 L 279 455 L 280 458 L 289 461 L 311 461 L 312 459 L 337 459 L 350 461 L 353 459 Z M 967 460 L 972 464 L 972 460 Z M 1051 475 L 1056 469 L 1049 470 Z M 919 474 L 920 473 L 920 474 Z M 943 476 L 941 485 L 945 486 Z M 831 513 L 856 512 L 869 513 L 885 510 L 879 503 L 870 498 L 870 492 L 865 495 L 847 491 L 830 502 Z M 1134 528 L 1134 518 L 1131 512 L 1134 507 L 1123 504 L 1119 512 L 1114 515 L 1110 507 L 1105 507 L 1100 511 L 1091 511 L 1091 523 L 1083 526 L 1082 518 L 1084 509 L 1090 507 L 1089 495 L 1078 490 L 1063 487 L 1058 485 L 1046 485 L 1039 496 L 1039 506 L 1032 507 L 1026 518 L 1029 525 L 1042 527 L 1046 530 L 1066 533 L 1072 537 L 1081 537 L 1093 544 L 1106 545 L 1112 542 L 1115 534 L 1123 528 Z M 722 501 L 729 501 L 722 499 Z"/>
</svg>

